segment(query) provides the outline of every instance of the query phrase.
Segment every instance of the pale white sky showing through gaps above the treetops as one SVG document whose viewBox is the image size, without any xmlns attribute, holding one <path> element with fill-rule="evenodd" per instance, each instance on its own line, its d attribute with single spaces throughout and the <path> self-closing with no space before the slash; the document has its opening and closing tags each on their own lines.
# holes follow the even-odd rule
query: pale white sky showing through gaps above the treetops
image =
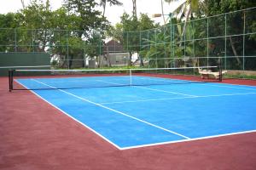
<svg viewBox="0 0 256 170">
<path fill-rule="evenodd" d="M 43 0 L 45 2 L 45 0 Z M 119 0 L 123 3 L 123 6 L 107 6 L 106 8 L 106 16 L 108 20 L 112 23 L 112 25 L 115 25 L 120 21 L 120 16 L 126 12 L 128 14 L 131 14 L 132 12 L 132 1 L 131 0 Z M 184 0 L 178 0 L 174 3 L 164 3 L 164 13 L 169 14 L 172 12 L 175 8 L 177 8 L 179 3 L 182 3 Z M 30 0 L 24 0 L 26 4 L 30 3 Z M 62 0 L 50 0 L 50 5 L 52 9 L 60 8 Z M 20 8 L 22 8 L 22 5 L 20 3 L 20 0 L 0 0 L 1 6 L 0 6 L 0 14 L 7 14 L 9 12 L 16 12 Z M 137 0 L 137 14 L 144 13 L 148 14 L 149 17 L 152 16 L 152 14 L 160 14 L 161 13 L 161 0 Z M 102 10 L 102 8 L 99 8 Z M 163 24 L 162 17 L 160 18 L 152 18 L 152 20 L 155 20 L 156 22 L 160 22 Z"/>
</svg>

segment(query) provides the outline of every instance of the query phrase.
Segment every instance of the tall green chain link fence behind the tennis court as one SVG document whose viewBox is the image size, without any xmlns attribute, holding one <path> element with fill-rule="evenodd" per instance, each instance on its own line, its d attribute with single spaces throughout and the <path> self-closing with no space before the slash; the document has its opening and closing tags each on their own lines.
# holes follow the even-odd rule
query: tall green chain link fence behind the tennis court
<svg viewBox="0 0 256 170">
<path fill-rule="evenodd" d="M 106 32 L 105 32 L 106 33 Z M 256 78 L 256 7 L 188 22 L 122 32 L 0 28 L 1 53 L 50 54 L 58 68 L 169 68 L 221 65 L 228 77 Z M 195 72 L 193 73 L 195 74 Z"/>
</svg>

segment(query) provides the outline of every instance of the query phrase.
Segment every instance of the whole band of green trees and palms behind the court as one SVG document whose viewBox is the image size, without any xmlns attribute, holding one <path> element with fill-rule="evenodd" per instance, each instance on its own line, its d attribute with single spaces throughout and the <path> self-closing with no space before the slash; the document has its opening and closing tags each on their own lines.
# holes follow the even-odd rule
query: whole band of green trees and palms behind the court
<svg viewBox="0 0 256 170">
<path fill-rule="evenodd" d="M 236 11 L 255 7 L 253 1 L 187 0 L 175 10 L 176 14 L 172 13 L 165 26 L 154 23 L 148 14 L 137 17 L 127 13 L 120 16 L 119 23 L 110 26 L 104 16 L 106 3 L 121 5 L 122 2 L 64 0 L 61 8 L 53 10 L 49 1 L 32 0 L 16 13 L 0 14 L 0 51 L 48 52 L 69 67 L 75 59 L 101 56 L 107 39 L 120 42 L 130 59 L 132 54 L 155 60 L 160 56 L 230 55 L 236 57 L 230 62 L 235 69 L 241 67 L 241 55 L 255 55 L 256 34 L 252 33 L 256 31 L 255 10 Z M 236 12 L 225 15 L 230 11 Z M 220 15 L 212 17 L 215 14 Z M 156 65 L 154 61 L 151 63 Z M 158 63 L 158 66 L 167 65 Z"/>
</svg>

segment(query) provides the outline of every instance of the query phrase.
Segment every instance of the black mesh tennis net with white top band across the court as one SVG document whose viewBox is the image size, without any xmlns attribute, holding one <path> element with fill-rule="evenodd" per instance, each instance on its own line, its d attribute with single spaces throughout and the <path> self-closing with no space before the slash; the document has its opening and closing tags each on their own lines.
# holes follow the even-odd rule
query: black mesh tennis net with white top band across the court
<svg viewBox="0 0 256 170">
<path fill-rule="evenodd" d="M 199 71 L 205 71 L 202 75 Z M 207 74 L 207 72 L 211 72 Z M 213 73 L 216 73 L 214 75 Z M 9 91 L 106 88 L 222 81 L 218 66 L 108 70 L 10 70 Z"/>
</svg>

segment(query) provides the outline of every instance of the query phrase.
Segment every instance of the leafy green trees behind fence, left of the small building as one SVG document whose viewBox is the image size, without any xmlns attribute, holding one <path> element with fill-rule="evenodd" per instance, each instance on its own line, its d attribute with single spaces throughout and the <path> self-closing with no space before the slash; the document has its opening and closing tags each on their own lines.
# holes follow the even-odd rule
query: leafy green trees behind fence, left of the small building
<svg viewBox="0 0 256 170">
<path fill-rule="evenodd" d="M 109 25 L 96 5 L 94 0 L 65 0 L 52 10 L 49 1 L 32 0 L 18 13 L 0 14 L 0 50 L 49 52 L 58 59 L 94 57 Z"/>
</svg>

